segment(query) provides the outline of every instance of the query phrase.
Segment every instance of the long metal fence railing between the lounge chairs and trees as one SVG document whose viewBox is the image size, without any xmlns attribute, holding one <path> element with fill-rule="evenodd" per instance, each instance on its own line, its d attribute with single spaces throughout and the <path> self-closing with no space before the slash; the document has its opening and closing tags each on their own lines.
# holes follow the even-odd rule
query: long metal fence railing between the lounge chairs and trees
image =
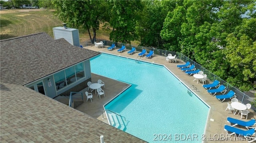
<svg viewBox="0 0 256 143">
<path fill-rule="evenodd" d="M 236 98 L 240 102 L 242 102 L 243 104 L 248 104 L 248 103 L 252 104 L 251 109 L 254 110 L 254 112 L 256 112 L 256 106 L 255 106 L 255 104 L 253 104 L 253 102 L 255 102 L 255 100 L 253 98 L 246 95 L 245 93 L 243 93 L 239 89 L 235 88 L 234 86 L 232 86 L 231 84 L 229 84 L 225 80 L 222 80 L 220 77 L 218 77 L 215 74 L 213 74 L 212 72 L 208 71 L 207 69 L 205 69 L 204 67 L 202 67 L 201 65 L 199 65 L 198 63 L 193 61 L 192 59 L 188 58 L 186 55 L 183 55 L 182 53 L 167 51 L 167 50 L 162 50 L 162 49 L 156 49 L 154 47 L 144 47 L 144 46 L 138 46 L 138 45 L 118 43 L 118 42 L 113 42 L 113 41 L 108 41 L 108 40 L 103 40 L 103 43 L 104 43 L 105 46 L 106 45 L 111 46 L 113 43 L 116 44 L 116 47 L 122 47 L 122 45 L 125 45 L 126 49 L 132 49 L 132 47 L 135 47 L 136 51 L 142 51 L 142 49 L 146 49 L 149 52 L 151 50 L 151 51 L 154 51 L 154 55 L 160 55 L 160 56 L 164 56 L 164 57 L 166 57 L 168 54 L 176 55 L 176 57 L 178 59 L 180 59 L 184 62 L 189 61 L 191 64 L 195 65 L 196 69 L 199 69 L 200 71 L 203 71 L 204 74 L 207 74 L 208 80 L 211 80 L 211 81 L 218 80 L 218 81 L 220 81 L 220 84 L 223 84 L 224 86 L 226 86 L 227 91 L 232 90 L 236 93 L 235 94 Z M 92 43 L 86 42 L 86 46 L 88 46 L 88 45 L 92 45 Z"/>
</svg>

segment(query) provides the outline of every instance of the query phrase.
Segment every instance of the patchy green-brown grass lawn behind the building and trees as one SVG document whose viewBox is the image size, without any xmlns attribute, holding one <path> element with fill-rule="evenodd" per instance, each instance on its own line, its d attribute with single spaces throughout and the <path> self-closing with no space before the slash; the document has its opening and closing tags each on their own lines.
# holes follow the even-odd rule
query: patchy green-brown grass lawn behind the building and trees
<svg viewBox="0 0 256 143">
<path fill-rule="evenodd" d="M 0 10 L 0 39 L 8 39 L 38 32 L 46 32 L 54 38 L 52 28 L 62 26 L 62 23 L 64 22 L 54 16 L 53 10 Z M 78 29 L 80 43 L 90 41 L 87 30 Z M 100 27 L 96 31 L 96 39 L 109 40 L 109 33 L 110 31 L 103 30 Z M 92 30 L 91 35 L 93 35 Z"/>
</svg>

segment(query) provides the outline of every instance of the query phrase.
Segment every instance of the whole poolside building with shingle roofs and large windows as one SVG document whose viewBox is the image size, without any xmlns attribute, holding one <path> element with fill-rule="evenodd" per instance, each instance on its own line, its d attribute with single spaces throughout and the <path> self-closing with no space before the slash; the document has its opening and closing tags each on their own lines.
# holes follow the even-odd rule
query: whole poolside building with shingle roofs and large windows
<svg viewBox="0 0 256 143">
<path fill-rule="evenodd" d="M 0 41 L 0 140 L 7 142 L 144 142 L 52 99 L 91 80 L 99 52 L 36 33 Z"/>
</svg>

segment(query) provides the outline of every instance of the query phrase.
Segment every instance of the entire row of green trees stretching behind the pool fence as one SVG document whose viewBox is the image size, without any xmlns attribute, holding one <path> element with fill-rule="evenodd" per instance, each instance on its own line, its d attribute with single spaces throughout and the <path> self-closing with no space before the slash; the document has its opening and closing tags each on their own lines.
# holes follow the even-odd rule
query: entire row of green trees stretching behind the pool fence
<svg viewBox="0 0 256 143">
<path fill-rule="evenodd" d="M 220 78 L 249 90 L 256 81 L 254 0 L 53 0 L 59 18 L 72 27 L 110 39 L 182 52 Z M 256 87 L 254 87 L 256 88 Z"/>
</svg>

